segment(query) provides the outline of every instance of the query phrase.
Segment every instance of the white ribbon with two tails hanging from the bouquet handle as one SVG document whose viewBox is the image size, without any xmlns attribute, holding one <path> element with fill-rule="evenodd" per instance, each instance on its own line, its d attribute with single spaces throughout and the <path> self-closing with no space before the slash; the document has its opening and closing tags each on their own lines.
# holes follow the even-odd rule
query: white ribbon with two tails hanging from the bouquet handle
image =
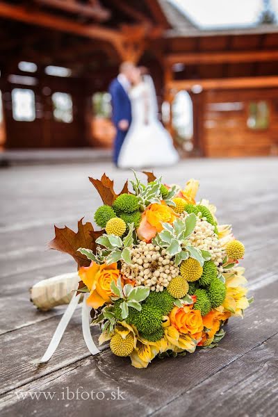
<svg viewBox="0 0 278 417">
<path fill-rule="evenodd" d="M 60 319 L 60 322 L 55 330 L 55 333 L 53 337 L 51 338 L 51 341 L 49 343 L 49 346 L 47 347 L 47 351 L 44 353 L 43 357 L 40 359 L 35 359 L 31 361 L 31 363 L 34 363 L 37 365 L 38 363 L 46 363 L 49 361 L 51 356 L 56 351 L 61 338 L 63 337 L 63 334 L 65 333 L 65 329 L 67 328 L 67 325 L 70 322 L 70 319 L 73 316 L 73 313 L 79 304 L 79 299 L 81 297 L 81 294 L 76 295 L 77 291 L 74 292 L 74 295 L 72 297 L 72 300 L 70 301 L 70 304 L 67 306 L 67 309 L 65 313 L 63 314 L 63 317 Z M 97 346 L 95 345 L 94 341 L 92 340 L 92 336 L 90 333 L 90 311 L 91 308 L 86 303 L 86 300 L 88 298 L 88 294 L 84 294 L 83 298 L 83 305 L 82 305 L 82 330 L 83 330 L 83 338 L 85 340 L 85 343 L 88 347 L 88 350 L 90 350 L 91 354 L 97 354 L 100 351 L 97 349 Z"/>
</svg>

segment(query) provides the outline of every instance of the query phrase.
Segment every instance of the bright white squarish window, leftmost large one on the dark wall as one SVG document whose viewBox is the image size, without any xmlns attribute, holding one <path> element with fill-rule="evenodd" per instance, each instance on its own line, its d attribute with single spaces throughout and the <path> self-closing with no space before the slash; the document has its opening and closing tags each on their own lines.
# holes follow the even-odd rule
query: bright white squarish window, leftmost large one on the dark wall
<svg viewBox="0 0 278 417">
<path fill-rule="evenodd" d="M 13 118 L 20 122 L 35 120 L 35 94 L 33 90 L 14 88 L 12 91 Z"/>
</svg>

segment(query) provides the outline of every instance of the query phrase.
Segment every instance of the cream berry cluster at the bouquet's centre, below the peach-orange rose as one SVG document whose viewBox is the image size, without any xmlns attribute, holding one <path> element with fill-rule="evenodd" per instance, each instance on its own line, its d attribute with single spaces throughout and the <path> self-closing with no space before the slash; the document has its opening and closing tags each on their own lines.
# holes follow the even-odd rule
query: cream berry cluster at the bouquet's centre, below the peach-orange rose
<svg viewBox="0 0 278 417">
<path fill-rule="evenodd" d="M 165 249 L 152 243 L 140 242 L 131 249 L 131 265 L 122 263 L 122 274 L 136 285 L 148 286 L 151 291 L 163 291 L 172 278 L 179 275 L 179 268 L 166 254 Z"/>
</svg>

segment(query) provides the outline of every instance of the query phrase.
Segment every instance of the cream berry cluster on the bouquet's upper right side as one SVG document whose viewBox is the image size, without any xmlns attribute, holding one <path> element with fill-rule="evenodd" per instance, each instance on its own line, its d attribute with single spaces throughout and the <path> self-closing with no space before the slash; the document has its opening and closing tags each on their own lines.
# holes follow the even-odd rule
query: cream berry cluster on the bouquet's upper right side
<svg viewBox="0 0 278 417">
<path fill-rule="evenodd" d="M 185 217 L 187 213 L 184 214 Z M 199 213 L 199 215 L 202 215 Z M 214 226 L 206 221 L 206 218 L 197 216 L 197 222 L 192 234 L 188 237 L 191 245 L 198 249 L 206 250 L 211 253 L 211 261 L 218 266 L 222 263 L 223 250 L 218 236 L 214 233 Z"/>
</svg>

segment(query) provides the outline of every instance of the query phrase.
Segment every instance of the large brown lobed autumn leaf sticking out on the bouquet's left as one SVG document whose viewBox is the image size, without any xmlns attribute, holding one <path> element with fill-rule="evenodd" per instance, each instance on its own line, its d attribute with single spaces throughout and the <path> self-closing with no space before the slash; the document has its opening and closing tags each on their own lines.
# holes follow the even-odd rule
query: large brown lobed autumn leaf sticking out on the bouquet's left
<svg viewBox="0 0 278 417">
<path fill-rule="evenodd" d="M 79 247 L 85 247 L 95 252 L 97 246 L 95 240 L 103 233 L 101 231 L 94 231 L 90 222 L 83 224 L 82 221 L 83 218 L 78 222 L 77 233 L 67 226 L 62 228 L 55 226 L 55 238 L 48 245 L 49 249 L 70 254 L 77 262 L 78 268 L 90 265 L 89 259 L 80 252 L 77 252 Z"/>
</svg>

